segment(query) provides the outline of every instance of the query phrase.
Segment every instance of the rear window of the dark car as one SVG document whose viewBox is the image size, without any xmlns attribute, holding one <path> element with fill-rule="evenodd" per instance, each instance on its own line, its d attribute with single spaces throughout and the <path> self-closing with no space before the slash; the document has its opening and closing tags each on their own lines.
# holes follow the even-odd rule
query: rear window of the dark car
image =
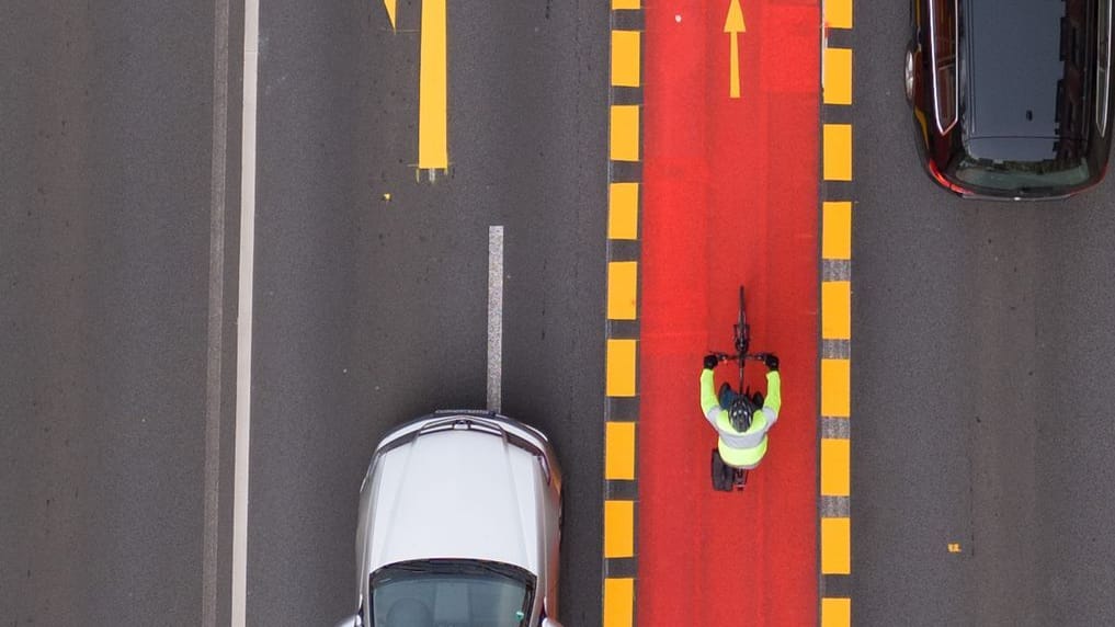
<svg viewBox="0 0 1115 627">
<path fill-rule="evenodd" d="M 1026 193 L 1047 189 L 1070 189 L 1092 176 L 1083 158 L 1048 161 L 992 161 L 967 156 L 956 176 L 975 187 Z"/>
</svg>

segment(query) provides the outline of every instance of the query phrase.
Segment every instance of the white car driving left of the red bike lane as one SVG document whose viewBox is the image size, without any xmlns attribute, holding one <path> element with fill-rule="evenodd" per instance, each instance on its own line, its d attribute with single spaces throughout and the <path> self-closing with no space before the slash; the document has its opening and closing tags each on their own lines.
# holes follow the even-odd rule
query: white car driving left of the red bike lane
<svg viewBox="0 0 1115 627">
<path fill-rule="evenodd" d="M 442 411 L 388 434 L 360 485 L 351 627 L 560 627 L 561 470 L 537 430 Z"/>
</svg>

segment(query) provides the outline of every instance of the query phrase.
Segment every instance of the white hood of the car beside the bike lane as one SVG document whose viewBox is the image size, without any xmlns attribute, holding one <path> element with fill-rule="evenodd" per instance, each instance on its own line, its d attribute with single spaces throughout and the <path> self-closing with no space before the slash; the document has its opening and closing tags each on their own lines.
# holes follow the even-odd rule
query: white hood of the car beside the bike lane
<svg viewBox="0 0 1115 627">
<path fill-rule="evenodd" d="M 369 572 L 405 560 L 468 558 L 539 575 L 542 467 L 504 437 L 420 434 L 380 454 L 372 481 Z"/>
</svg>

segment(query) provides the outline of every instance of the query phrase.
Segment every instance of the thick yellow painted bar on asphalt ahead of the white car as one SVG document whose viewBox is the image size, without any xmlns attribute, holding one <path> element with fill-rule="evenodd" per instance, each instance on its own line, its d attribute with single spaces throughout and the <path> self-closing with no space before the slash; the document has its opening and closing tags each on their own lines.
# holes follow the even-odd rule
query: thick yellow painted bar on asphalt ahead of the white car
<svg viewBox="0 0 1115 627">
<path fill-rule="evenodd" d="M 449 167 L 446 138 L 446 0 L 423 0 L 421 57 L 418 61 L 418 168 Z"/>
</svg>

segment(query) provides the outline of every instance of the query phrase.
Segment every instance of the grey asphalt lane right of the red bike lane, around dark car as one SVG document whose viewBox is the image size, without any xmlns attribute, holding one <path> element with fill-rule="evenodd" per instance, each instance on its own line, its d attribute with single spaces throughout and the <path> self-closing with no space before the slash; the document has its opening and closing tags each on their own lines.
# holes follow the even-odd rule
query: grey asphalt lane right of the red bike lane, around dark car
<svg viewBox="0 0 1115 627">
<path fill-rule="evenodd" d="M 1115 180 L 1038 204 L 938 189 L 908 11 L 861 3 L 850 40 L 853 620 L 1108 625 Z"/>
</svg>

